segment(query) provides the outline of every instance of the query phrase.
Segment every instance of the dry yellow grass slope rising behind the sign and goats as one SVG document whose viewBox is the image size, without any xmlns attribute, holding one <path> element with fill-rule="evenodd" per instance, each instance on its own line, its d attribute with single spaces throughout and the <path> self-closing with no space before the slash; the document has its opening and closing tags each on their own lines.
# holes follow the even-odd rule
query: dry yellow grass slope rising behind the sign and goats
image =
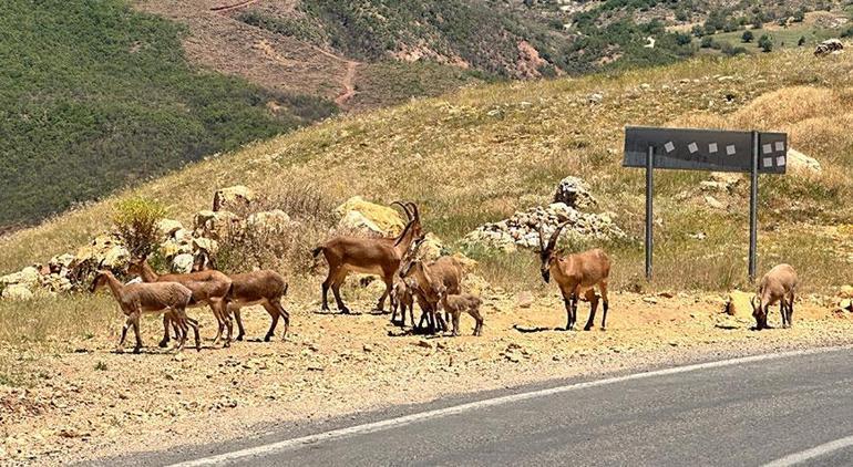
<svg viewBox="0 0 853 467">
<path fill-rule="evenodd" d="M 605 247 L 618 264 L 615 286 L 635 287 L 643 267 L 644 176 L 620 167 L 623 127 L 757 126 L 789 132 L 791 145 L 823 166 L 819 174 L 762 177 L 761 261 L 795 263 L 805 289 L 824 288 L 847 280 L 834 271 L 849 269 L 853 258 L 845 250 L 849 242 L 828 237 L 853 217 L 844 201 L 853 195 L 846 176 L 853 168 L 846 156 L 853 151 L 851 73 L 849 54 L 816 59 L 791 51 L 693 60 L 619 76 L 482 86 L 335 118 L 195 164 L 122 196 L 162 199 L 172 216 L 186 222 L 207 207 L 214 189 L 237 183 L 271 199 L 301 196 L 327 205 L 352 195 L 387 203 L 413 199 L 422 206 L 426 228 L 453 243 L 484 221 L 547 204 L 562 177 L 577 175 L 599 197 L 600 209 L 614 211 L 631 237 Z M 600 103 L 590 103 L 592 93 L 602 94 Z M 717 289 L 744 281 L 748 185 L 713 194 L 728 205 L 717 209 L 705 201 L 700 181 L 706 179 L 708 174 L 679 172 L 656 177 L 659 287 Z M 2 239 L 0 271 L 45 261 L 88 241 L 109 227 L 112 203 Z M 471 253 L 499 283 L 536 283 L 533 255 Z M 287 272 L 306 271 L 294 267 Z"/>
</svg>

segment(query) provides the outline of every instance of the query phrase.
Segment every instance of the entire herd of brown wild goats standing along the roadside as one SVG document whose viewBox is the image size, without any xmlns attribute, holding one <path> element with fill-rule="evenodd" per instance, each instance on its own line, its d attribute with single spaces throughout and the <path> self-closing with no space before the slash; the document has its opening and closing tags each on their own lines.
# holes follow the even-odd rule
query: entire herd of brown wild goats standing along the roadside
<svg viewBox="0 0 853 467">
<path fill-rule="evenodd" d="M 423 329 L 424 321 L 429 332 L 448 331 L 452 322 L 452 334 L 459 335 L 459 321 L 462 312 L 469 313 L 476 321 L 474 335 L 480 335 L 483 316 L 480 312 L 480 298 L 461 290 L 463 276 L 462 263 L 453 257 L 440 257 L 424 262 L 419 259 L 418 249 L 424 239 L 420 212 L 414 203 L 394 201 L 405 212 L 408 222 L 397 237 L 366 238 L 336 236 L 318 246 L 312 255 L 321 253 L 329 267 L 329 273 L 322 282 L 322 310 L 328 311 L 328 292 L 331 289 L 338 310 L 349 313 L 340 297 L 340 287 L 350 272 L 379 276 L 386 290 L 379 298 L 377 309 L 384 310 L 384 301 L 390 298 L 391 321 L 397 322 L 397 312 L 401 318 L 399 325 L 405 325 L 405 312 L 409 311 L 413 328 Z M 568 222 L 557 226 L 547 243 L 539 229 L 541 272 L 545 282 L 553 277 L 566 307 L 566 330 L 574 329 L 577 319 L 577 302 L 584 299 L 590 303 L 589 319 L 584 326 L 589 331 L 595 322 L 599 300 L 603 302 L 602 329 L 607 322 L 607 283 L 610 273 L 610 260 L 600 249 L 580 253 L 561 256 L 555 253 L 557 239 Z M 189 273 L 157 274 L 143 258 L 134 258 L 127 272 L 138 276 L 141 282 L 125 284 L 109 270 L 99 271 L 92 282 L 91 291 L 109 287 L 126 316 L 122 329 L 119 351 L 124 346 L 127 330 L 133 326 L 136 344 L 134 352 L 142 347 L 140 318 L 144 313 L 163 314 L 163 340 L 161 347 L 168 345 L 174 332 L 177 351 L 184 347 L 189 329 L 193 329 L 196 347 L 201 350 L 198 322 L 186 315 L 187 308 L 209 307 L 218 323 L 214 345 L 218 344 L 225 332 L 225 346 L 232 342 L 233 318 L 237 322 L 237 340 L 243 340 L 245 330 L 240 319 L 240 309 L 249 305 L 263 305 L 273 322 L 265 341 L 269 341 L 278 324 L 284 321 L 284 335 L 290 325 L 290 316 L 281 304 L 287 294 L 285 278 L 271 270 L 230 274 L 217 271 L 208 261 L 203 261 Z M 757 329 L 768 328 L 769 307 L 780 303 L 783 326 L 791 324 L 794 293 L 798 278 L 789 264 L 779 264 L 759 281 L 758 293 L 751 304 Z M 596 289 L 598 293 L 596 293 Z M 414 323 L 414 303 L 422 310 L 420 322 Z M 441 311 L 444 311 L 444 318 Z M 233 316 L 233 318 L 232 318 Z"/>
</svg>

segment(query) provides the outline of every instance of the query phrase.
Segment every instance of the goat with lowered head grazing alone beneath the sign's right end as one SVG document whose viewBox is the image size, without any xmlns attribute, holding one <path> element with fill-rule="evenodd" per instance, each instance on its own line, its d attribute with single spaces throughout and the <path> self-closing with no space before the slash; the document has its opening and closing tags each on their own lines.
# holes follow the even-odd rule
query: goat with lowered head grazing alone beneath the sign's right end
<svg viewBox="0 0 853 467">
<path fill-rule="evenodd" d="M 750 300 L 756 329 L 770 328 L 767 324 L 768 309 L 779 302 L 782 313 L 782 328 L 793 325 L 794 294 L 799 279 L 790 264 L 779 264 L 769 270 L 758 283 L 758 293 Z"/>
</svg>

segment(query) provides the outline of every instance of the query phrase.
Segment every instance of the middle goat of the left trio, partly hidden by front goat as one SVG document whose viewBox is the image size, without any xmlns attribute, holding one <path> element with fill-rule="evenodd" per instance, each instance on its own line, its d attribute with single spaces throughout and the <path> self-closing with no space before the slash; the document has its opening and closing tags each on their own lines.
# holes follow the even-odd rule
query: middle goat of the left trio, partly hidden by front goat
<svg viewBox="0 0 853 467">
<path fill-rule="evenodd" d="M 216 318 L 218 329 L 214 345 L 219 343 L 223 328 L 228 329 L 228 333 L 225 338 L 225 346 L 227 347 L 230 345 L 233 324 L 230 316 L 227 313 L 227 300 L 228 292 L 232 288 L 232 280 L 228 279 L 227 276 L 219 271 L 199 271 L 185 274 L 160 276 L 154 271 L 151 264 L 148 264 L 147 259 L 144 257 L 133 259 L 127 271 L 133 274 L 138 274 L 144 282 L 177 282 L 192 290 L 192 307 L 209 305 L 214 313 L 214 318 Z M 165 347 L 168 344 L 168 322 L 169 316 L 164 315 L 164 334 L 163 340 L 160 342 L 160 346 L 162 347 Z"/>
</svg>

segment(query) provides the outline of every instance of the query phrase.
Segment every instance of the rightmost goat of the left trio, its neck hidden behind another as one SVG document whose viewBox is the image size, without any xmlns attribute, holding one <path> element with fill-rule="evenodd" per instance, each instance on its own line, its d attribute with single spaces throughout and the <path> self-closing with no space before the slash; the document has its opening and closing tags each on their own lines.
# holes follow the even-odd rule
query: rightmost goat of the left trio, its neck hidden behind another
<svg viewBox="0 0 853 467">
<path fill-rule="evenodd" d="M 202 250 L 193 264 L 193 271 L 215 270 L 216 263 L 209 253 Z M 281 300 L 287 294 L 287 281 L 276 271 L 264 269 L 246 272 L 241 274 L 229 274 L 232 280 L 232 290 L 228 294 L 228 316 L 234 313 L 237 321 L 237 340 L 243 341 L 246 330 L 243 326 L 240 309 L 259 304 L 267 310 L 273 323 L 267 331 L 264 341 L 269 342 L 276 332 L 279 318 L 285 322 L 285 332 L 281 335 L 287 338 L 287 331 L 290 329 L 290 313 L 285 310 Z M 222 332 L 222 329 L 219 330 Z"/>
</svg>

